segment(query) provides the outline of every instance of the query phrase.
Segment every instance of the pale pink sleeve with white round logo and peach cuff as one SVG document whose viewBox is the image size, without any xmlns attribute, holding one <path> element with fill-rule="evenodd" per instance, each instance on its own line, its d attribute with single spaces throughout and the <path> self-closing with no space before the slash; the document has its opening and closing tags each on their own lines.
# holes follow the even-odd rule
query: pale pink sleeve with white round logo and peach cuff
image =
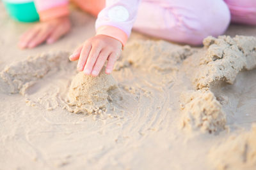
<svg viewBox="0 0 256 170">
<path fill-rule="evenodd" d="M 96 20 L 97 34 L 118 39 L 125 45 L 136 20 L 140 0 L 106 0 Z"/>
</svg>

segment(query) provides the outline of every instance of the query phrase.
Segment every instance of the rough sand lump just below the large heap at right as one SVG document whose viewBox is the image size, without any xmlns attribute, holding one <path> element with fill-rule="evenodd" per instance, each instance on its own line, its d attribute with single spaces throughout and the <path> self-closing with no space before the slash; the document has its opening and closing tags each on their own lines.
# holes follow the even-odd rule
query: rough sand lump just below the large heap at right
<svg viewBox="0 0 256 170">
<path fill-rule="evenodd" d="M 209 133 L 225 129 L 225 113 L 210 90 L 188 92 L 182 98 L 182 127 Z"/>
</svg>

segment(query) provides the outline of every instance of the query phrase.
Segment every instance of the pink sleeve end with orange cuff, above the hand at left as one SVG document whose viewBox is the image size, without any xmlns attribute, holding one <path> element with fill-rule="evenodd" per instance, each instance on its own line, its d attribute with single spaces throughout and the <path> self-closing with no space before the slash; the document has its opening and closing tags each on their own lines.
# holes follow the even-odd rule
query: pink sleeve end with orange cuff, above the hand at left
<svg viewBox="0 0 256 170">
<path fill-rule="evenodd" d="M 35 0 L 40 20 L 50 20 L 69 14 L 68 0 Z"/>
</svg>

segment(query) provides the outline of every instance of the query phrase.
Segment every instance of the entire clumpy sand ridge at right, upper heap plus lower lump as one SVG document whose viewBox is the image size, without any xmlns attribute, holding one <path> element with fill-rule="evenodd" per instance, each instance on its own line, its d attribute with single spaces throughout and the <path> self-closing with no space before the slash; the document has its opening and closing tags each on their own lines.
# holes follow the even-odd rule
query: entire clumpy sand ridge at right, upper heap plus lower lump
<svg viewBox="0 0 256 170">
<path fill-rule="evenodd" d="M 221 109 L 221 103 L 216 100 L 211 88 L 221 82 L 232 84 L 239 71 L 256 66 L 256 38 L 210 36 L 204 39 L 204 48 L 188 62 L 187 73 L 195 90 L 185 92 L 180 97 L 183 113 L 181 124 L 193 131 L 219 132 L 225 129 L 228 113 Z"/>
</svg>

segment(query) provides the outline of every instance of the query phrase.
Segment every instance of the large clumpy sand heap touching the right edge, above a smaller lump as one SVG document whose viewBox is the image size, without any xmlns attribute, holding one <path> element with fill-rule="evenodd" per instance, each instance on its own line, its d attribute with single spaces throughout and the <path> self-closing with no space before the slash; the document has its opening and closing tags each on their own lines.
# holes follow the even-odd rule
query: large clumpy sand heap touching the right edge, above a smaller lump
<svg viewBox="0 0 256 170">
<path fill-rule="evenodd" d="M 204 39 L 207 48 L 200 56 L 194 83 L 197 89 L 211 87 L 218 81 L 233 83 L 243 68 L 256 66 L 256 38 L 252 36 L 219 36 Z"/>
</svg>

